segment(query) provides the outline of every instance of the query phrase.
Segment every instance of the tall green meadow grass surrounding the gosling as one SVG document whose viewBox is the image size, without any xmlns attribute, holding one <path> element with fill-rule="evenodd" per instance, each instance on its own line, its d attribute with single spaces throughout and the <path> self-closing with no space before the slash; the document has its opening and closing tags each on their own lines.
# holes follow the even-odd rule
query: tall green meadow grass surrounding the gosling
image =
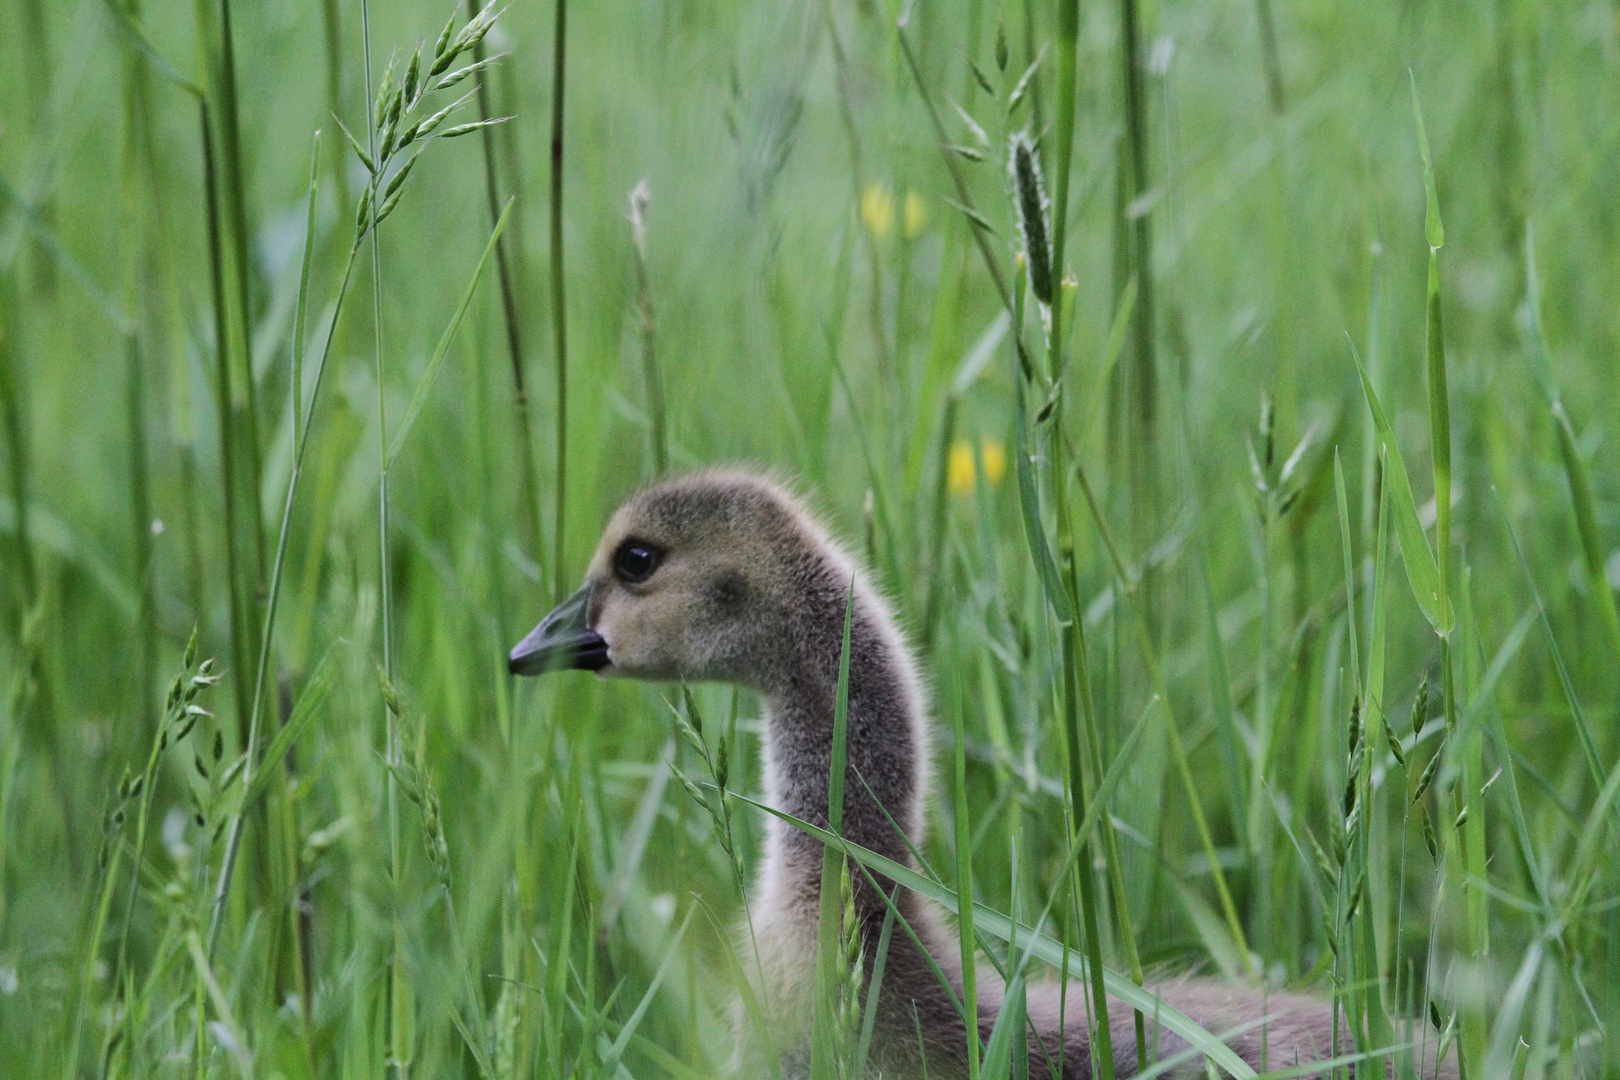
<svg viewBox="0 0 1620 1080">
<path fill-rule="evenodd" d="M 1008 980 L 980 1077 L 1061 973 L 1153 1065 L 1187 970 L 1615 1072 L 1612 23 L 0 0 L 0 1059 L 723 1075 L 760 703 L 504 656 L 740 460 L 936 690 L 818 1075 L 915 933 L 857 874 Z"/>
</svg>

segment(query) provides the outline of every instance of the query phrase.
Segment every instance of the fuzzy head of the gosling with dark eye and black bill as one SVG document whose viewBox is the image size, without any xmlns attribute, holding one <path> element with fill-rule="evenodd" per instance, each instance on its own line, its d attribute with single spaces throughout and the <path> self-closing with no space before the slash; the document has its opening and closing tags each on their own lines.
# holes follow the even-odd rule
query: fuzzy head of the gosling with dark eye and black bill
<svg viewBox="0 0 1620 1080">
<path fill-rule="evenodd" d="M 585 586 L 512 649 L 509 665 L 515 675 L 585 669 L 770 690 L 821 594 L 842 612 L 850 573 L 776 483 L 740 471 L 679 476 L 614 513 Z"/>
</svg>

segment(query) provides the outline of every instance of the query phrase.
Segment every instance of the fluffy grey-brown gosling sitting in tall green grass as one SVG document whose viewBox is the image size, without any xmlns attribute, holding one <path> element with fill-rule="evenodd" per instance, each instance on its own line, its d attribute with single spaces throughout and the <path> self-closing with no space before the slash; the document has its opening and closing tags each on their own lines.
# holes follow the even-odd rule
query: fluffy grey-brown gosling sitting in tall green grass
<svg viewBox="0 0 1620 1080">
<path fill-rule="evenodd" d="M 608 523 L 585 586 L 512 649 L 510 669 L 517 675 L 585 669 L 620 678 L 713 680 L 758 691 L 768 711 L 765 800 L 825 827 L 850 583 L 842 829 L 852 844 L 915 868 L 906 837 L 922 844 L 930 785 L 928 709 L 915 659 L 855 560 L 771 479 L 703 471 L 633 495 Z M 768 1041 L 789 1078 L 808 1075 L 820 889 L 821 845 L 771 818 L 750 916 L 760 989 L 776 1028 Z M 863 874 L 854 874 L 852 892 L 862 936 L 875 938 L 885 899 Z M 897 907 L 930 955 L 909 934 L 891 936 L 868 1075 L 966 1077 L 966 1025 L 933 972 L 936 963 L 954 993 L 962 993 L 954 934 L 912 892 L 899 891 Z M 862 944 L 872 955 L 875 939 Z M 977 984 L 980 1036 L 988 1038 L 1003 988 L 985 976 Z M 1058 989 L 1029 988 L 1030 1077 L 1053 1080 L 1048 1061 L 1063 1062 L 1063 1080 L 1090 1077 L 1084 991 L 1071 986 L 1064 1022 Z M 1322 1061 L 1333 1048 L 1332 1012 L 1315 997 L 1262 997 L 1204 980 L 1176 980 L 1157 993 L 1209 1031 L 1252 1025 L 1228 1044 L 1256 1069 Z M 1134 1075 L 1132 1012 L 1110 999 L 1108 1015 L 1115 1075 Z M 1262 1017 L 1265 1023 L 1256 1023 Z M 1343 1025 L 1340 1035 L 1340 1046 L 1348 1046 Z M 744 1036 L 744 1075 L 768 1075 L 763 1033 Z M 1147 1040 L 1155 1059 L 1187 1049 L 1152 1017 Z M 1187 1062 L 1186 1070 L 1204 1075 L 1202 1061 Z"/>
</svg>

